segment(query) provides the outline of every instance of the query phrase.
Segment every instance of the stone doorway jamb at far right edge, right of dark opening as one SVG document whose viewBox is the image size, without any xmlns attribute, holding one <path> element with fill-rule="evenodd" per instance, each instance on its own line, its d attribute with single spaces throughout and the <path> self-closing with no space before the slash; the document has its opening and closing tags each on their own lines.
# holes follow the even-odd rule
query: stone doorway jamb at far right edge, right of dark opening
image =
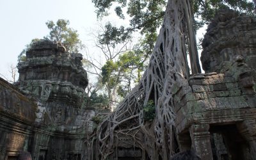
<svg viewBox="0 0 256 160">
<path fill-rule="evenodd" d="M 251 159 L 256 160 L 256 122 L 255 120 L 245 120 L 237 124 L 237 128 L 249 144 Z"/>
</svg>

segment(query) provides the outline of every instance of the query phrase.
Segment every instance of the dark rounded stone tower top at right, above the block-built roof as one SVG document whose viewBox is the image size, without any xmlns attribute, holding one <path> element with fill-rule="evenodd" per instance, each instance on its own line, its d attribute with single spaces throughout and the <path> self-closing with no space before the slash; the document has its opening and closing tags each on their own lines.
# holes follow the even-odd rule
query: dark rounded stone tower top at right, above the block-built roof
<svg viewBox="0 0 256 160">
<path fill-rule="evenodd" d="M 207 28 L 202 42 L 202 67 L 205 72 L 225 72 L 237 55 L 255 68 L 256 17 L 220 10 Z"/>
</svg>

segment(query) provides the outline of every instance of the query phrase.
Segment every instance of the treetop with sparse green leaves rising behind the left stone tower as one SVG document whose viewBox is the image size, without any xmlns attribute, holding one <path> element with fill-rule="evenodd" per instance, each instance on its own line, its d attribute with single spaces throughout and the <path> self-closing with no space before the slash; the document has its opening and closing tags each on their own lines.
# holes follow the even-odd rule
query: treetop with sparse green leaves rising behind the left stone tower
<svg viewBox="0 0 256 160">
<path fill-rule="evenodd" d="M 45 39 L 63 43 L 68 52 L 79 52 L 83 49 L 84 46 L 77 31 L 68 28 L 69 20 L 59 19 L 56 24 L 49 20 L 45 24 L 50 30 L 49 35 L 44 37 Z"/>
</svg>

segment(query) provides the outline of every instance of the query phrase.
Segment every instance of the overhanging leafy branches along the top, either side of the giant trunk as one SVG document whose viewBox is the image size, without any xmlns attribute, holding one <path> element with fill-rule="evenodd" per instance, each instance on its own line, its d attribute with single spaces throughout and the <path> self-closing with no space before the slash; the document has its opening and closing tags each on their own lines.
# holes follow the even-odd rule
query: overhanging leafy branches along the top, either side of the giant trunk
<svg viewBox="0 0 256 160">
<path fill-rule="evenodd" d="M 131 38 L 131 33 L 134 31 L 140 31 L 141 35 L 144 35 L 144 51 L 150 55 L 154 49 L 154 43 L 156 42 L 157 28 L 159 28 L 163 22 L 164 10 L 166 6 L 166 0 L 92 0 L 95 4 L 95 11 L 98 18 L 109 15 L 108 10 L 115 6 L 115 13 L 120 19 L 125 19 L 124 10 L 127 10 L 127 15 L 130 17 L 130 26 L 125 28 L 121 26 L 116 28 L 107 25 L 106 31 L 102 34 L 102 42 L 106 43 L 111 40 L 111 43 L 115 45 L 120 40 L 124 42 L 125 39 Z M 190 0 L 191 8 L 195 17 L 195 29 L 199 29 L 204 24 L 209 24 L 213 19 L 217 10 L 221 8 L 231 8 L 237 10 L 237 12 L 246 12 L 253 14 L 254 5 L 248 0 Z"/>
</svg>

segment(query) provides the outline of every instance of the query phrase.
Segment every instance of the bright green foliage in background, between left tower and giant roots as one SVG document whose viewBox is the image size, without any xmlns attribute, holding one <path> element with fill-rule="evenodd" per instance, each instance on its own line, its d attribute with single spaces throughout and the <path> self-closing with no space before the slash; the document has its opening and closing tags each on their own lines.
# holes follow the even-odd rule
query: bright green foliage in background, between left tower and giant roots
<svg viewBox="0 0 256 160">
<path fill-rule="evenodd" d="M 117 61 L 107 61 L 102 67 L 102 83 L 108 84 L 111 89 L 118 86 L 118 95 L 125 97 L 131 91 L 131 84 L 138 82 L 145 68 L 141 56 L 141 52 L 127 51 Z"/>
</svg>

